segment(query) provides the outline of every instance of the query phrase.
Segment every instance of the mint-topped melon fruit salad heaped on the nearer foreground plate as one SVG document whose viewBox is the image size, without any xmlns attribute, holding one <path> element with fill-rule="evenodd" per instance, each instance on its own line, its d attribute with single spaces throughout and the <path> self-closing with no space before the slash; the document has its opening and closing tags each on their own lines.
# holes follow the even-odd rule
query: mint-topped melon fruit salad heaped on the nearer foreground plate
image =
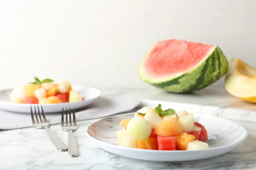
<svg viewBox="0 0 256 170">
<path fill-rule="evenodd" d="M 123 129 L 116 132 L 119 146 L 148 150 L 208 149 L 207 130 L 196 122 L 194 114 L 185 110 L 154 110 L 143 107 L 134 118 L 120 122 Z"/>
</svg>

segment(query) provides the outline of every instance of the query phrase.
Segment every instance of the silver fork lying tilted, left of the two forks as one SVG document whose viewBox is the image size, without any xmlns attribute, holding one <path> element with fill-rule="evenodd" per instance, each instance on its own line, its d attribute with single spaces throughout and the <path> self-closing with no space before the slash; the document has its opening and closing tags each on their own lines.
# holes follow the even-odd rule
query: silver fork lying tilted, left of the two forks
<svg viewBox="0 0 256 170">
<path fill-rule="evenodd" d="M 35 106 L 34 106 L 34 108 L 35 108 Z M 44 114 L 43 107 L 41 106 L 42 115 L 43 115 L 44 120 L 41 117 L 39 106 L 37 106 L 37 108 L 38 108 L 38 114 L 37 114 L 37 111 L 36 111 L 36 108 L 35 108 L 35 119 L 36 119 L 36 122 L 35 122 L 35 119 L 34 119 L 34 116 L 33 116 L 34 113 L 32 111 L 32 106 L 30 106 L 33 126 L 36 127 L 36 128 L 44 128 L 47 131 L 47 133 L 48 133 L 50 139 L 52 140 L 52 143 L 55 145 L 55 147 L 57 147 L 58 150 L 60 150 L 60 151 L 66 151 L 67 146 L 61 141 L 61 139 L 58 138 L 58 136 L 56 136 L 49 129 L 49 123 L 47 122 L 46 116 Z M 39 117 L 41 122 L 39 121 L 38 117 Z"/>
</svg>

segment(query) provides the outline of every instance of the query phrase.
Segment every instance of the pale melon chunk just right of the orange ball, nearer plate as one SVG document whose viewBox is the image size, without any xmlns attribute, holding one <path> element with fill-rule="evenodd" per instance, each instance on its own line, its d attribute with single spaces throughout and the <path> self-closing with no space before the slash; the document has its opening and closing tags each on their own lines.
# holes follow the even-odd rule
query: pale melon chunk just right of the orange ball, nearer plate
<svg viewBox="0 0 256 170">
<path fill-rule="evenodd" d="M 178 121 L 182 126 L 182 132 L 189 133 L 194 130 L 194 114 L 181 116 Z"/>
</svg>

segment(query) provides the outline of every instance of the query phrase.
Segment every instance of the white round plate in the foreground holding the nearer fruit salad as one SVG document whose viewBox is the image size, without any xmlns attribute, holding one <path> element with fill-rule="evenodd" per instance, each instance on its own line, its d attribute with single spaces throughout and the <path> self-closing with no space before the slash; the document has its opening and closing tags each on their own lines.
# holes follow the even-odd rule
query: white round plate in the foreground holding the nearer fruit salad
<svg viewBox="0 0 256 170">
<path fill-rule="evenodd" d="M 116 139 L 116 131 L 122 129 L 119 122 L 122 119 L 131 119 L 134 113 L 101 119 L 87 127 L 86 133 L 99 147 L 108 152 L 149 161 L 190 161 L 219 156 L 233 150 L 247 138 L 246 129 L 235 122 L 214 116 L 194 115 L 196 121 L 208 131 L 209 149 L 167 151 L 120 147 Z"/>
</svg>

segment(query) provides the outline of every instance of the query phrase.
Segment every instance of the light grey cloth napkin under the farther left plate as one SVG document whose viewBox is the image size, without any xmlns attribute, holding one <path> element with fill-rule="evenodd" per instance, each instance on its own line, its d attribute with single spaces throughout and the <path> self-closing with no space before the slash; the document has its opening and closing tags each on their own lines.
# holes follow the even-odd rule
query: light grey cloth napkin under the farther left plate
<svg viewBox="0 0 256 170">
<path fill-rule="evenodd" d="M 77 110 L 76 120 L 81 121 L 113 116 L 131 111 L 139 104 L 140 102 L 137 99 L 129 97 L 101 97 L 86 108 Z M 61 113 L 47 113 L 46 117 L 50 125 L 61 123 Z M 32 127 L 30 113 L 15 113 L 0 110 L 0 130 L 11 130 L 24 127 Z"/>
</svg>

